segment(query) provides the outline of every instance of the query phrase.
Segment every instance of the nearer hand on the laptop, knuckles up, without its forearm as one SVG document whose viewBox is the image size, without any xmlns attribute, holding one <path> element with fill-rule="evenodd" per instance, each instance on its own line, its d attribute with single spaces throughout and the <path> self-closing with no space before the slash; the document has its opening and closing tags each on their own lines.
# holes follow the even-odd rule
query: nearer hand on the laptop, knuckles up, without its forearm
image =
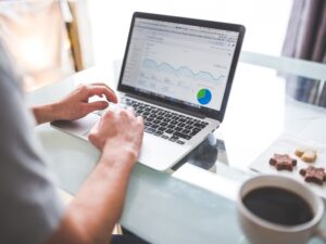
<svg viewBox="0 0 326 244">
<path fill-rule="evenodd" d="M 142 117 L 135 117 L 134 111 L 116 108 L 104 114 L 93 126 L 89 141 L 103 154 L 115 157 L 128 156 L 136 162 L 143 136 Z"/>
</svg>

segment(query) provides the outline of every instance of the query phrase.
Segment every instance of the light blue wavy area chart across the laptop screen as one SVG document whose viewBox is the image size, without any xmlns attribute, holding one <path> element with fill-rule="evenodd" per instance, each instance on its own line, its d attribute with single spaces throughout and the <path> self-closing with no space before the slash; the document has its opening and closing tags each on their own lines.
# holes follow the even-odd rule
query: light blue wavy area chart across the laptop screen
<svg viewBox="0 0 326 244">
<path fill-rule="evenodd" d="M 175 76 L 183 76 L 183 77 L 203 80 L 203 81 L 222 81 L 225 78 L 224 75 L 220 75 L 218 77 L 214 77 L 209 72 L 200 70 L 198 73 L 195 73 L 187 66 L 180 66 L 180 67 L 175 68 L 166 62 L 162 62 L 162 63 L 158 64 L 154 60 L 151 60 L 151 59 L 145 59 L 143 62 L 142 62 L 142 65 L 146 68 L 155 69 L 155 70 L 159 70 L 159 72 L 173 74 Z"/>
</svg>

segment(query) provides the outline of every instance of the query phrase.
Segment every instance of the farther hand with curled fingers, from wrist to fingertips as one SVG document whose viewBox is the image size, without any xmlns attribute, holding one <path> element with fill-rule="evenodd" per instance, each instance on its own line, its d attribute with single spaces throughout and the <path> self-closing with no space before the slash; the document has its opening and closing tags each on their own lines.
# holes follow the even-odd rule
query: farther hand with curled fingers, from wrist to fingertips
<svg viewBox="0 0 326 244">
<path fill-rule="evenodd" d="M 110 102 L 117 103 L 114 92 L 104 84 L 83 85 L 57 103 L 57 120 L 74 120 L 83 118 L 91 112 L 104 110 L 106 101 L 89 102 L 89 98 L 105 97 Z"/>
</svg>

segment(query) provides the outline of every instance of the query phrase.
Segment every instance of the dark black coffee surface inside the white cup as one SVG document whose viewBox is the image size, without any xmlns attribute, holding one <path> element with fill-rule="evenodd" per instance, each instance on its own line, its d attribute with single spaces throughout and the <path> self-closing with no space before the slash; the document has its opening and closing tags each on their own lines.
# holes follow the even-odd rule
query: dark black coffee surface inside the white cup
<svg viewBox="0 0 326 244">
<path fill-rule="evenodd" d="M 280 188 L 255 189 L 242 201 L 250 211 L 273 223 L 297 226 L 313 218 L 311 207 L 301 196 Z"/>
</svg>

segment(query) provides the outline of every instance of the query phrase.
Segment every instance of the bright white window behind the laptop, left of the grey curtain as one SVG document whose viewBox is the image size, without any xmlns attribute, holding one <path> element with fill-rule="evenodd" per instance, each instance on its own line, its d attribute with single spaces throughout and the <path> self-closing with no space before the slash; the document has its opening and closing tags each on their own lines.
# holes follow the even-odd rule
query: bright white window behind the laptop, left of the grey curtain
<svg viewBox="0 0 326 244">
<path fill-rule="evenodd" d="M 153 12 L 247 27 L 242 50 L 280 55 L 292 0 L 88 1 L 96 63 L 123 57 L 133 12 Z"/>
</svg>

